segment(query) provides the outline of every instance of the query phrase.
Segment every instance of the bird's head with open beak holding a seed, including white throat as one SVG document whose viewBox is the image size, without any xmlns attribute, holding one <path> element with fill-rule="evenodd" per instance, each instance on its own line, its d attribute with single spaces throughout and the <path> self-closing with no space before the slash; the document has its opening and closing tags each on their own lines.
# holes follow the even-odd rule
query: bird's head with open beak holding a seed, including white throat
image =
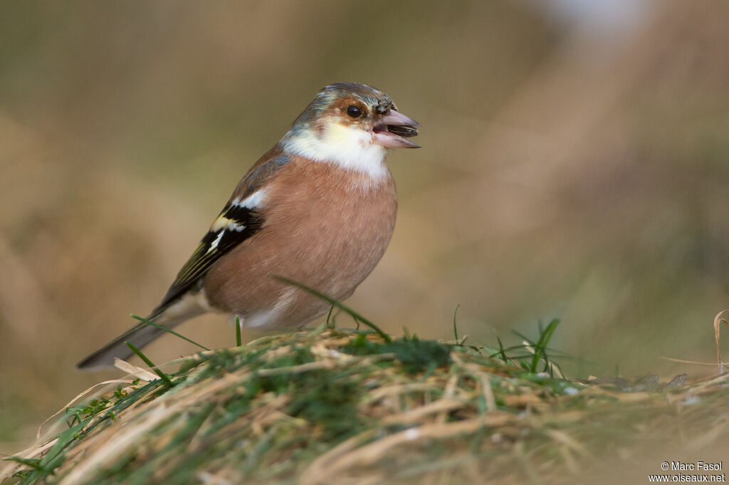
<svg viewBox="0 0 729 485">
<path fill-rule="evenodd" d="M 419 148 L 408 139 L 418 126 L 381 90 L 338 82 L 316 94 L 281 144 L 286 152 L 377 176 L 386 172 L 387 148 Z"/>
</svg>

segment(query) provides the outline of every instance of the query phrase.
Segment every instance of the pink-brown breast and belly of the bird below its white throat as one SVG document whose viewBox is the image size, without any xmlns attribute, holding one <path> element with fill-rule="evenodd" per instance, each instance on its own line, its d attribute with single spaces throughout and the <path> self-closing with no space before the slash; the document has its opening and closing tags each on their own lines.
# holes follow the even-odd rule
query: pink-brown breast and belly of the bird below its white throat
<svg viewBox="0 0 729 485">
<path fill-rule="evenodd" d="M 348 298 L 392 236 L 394 181 L 389 171 L 372 181 L 330 163 L 293 158 L 265 190 L 262 229 L 212 266 L 204 288 L 212 306 L 240 314 L 245 325 L 302 326 L 329 303 L 270 275 Z"/>
</svg>

